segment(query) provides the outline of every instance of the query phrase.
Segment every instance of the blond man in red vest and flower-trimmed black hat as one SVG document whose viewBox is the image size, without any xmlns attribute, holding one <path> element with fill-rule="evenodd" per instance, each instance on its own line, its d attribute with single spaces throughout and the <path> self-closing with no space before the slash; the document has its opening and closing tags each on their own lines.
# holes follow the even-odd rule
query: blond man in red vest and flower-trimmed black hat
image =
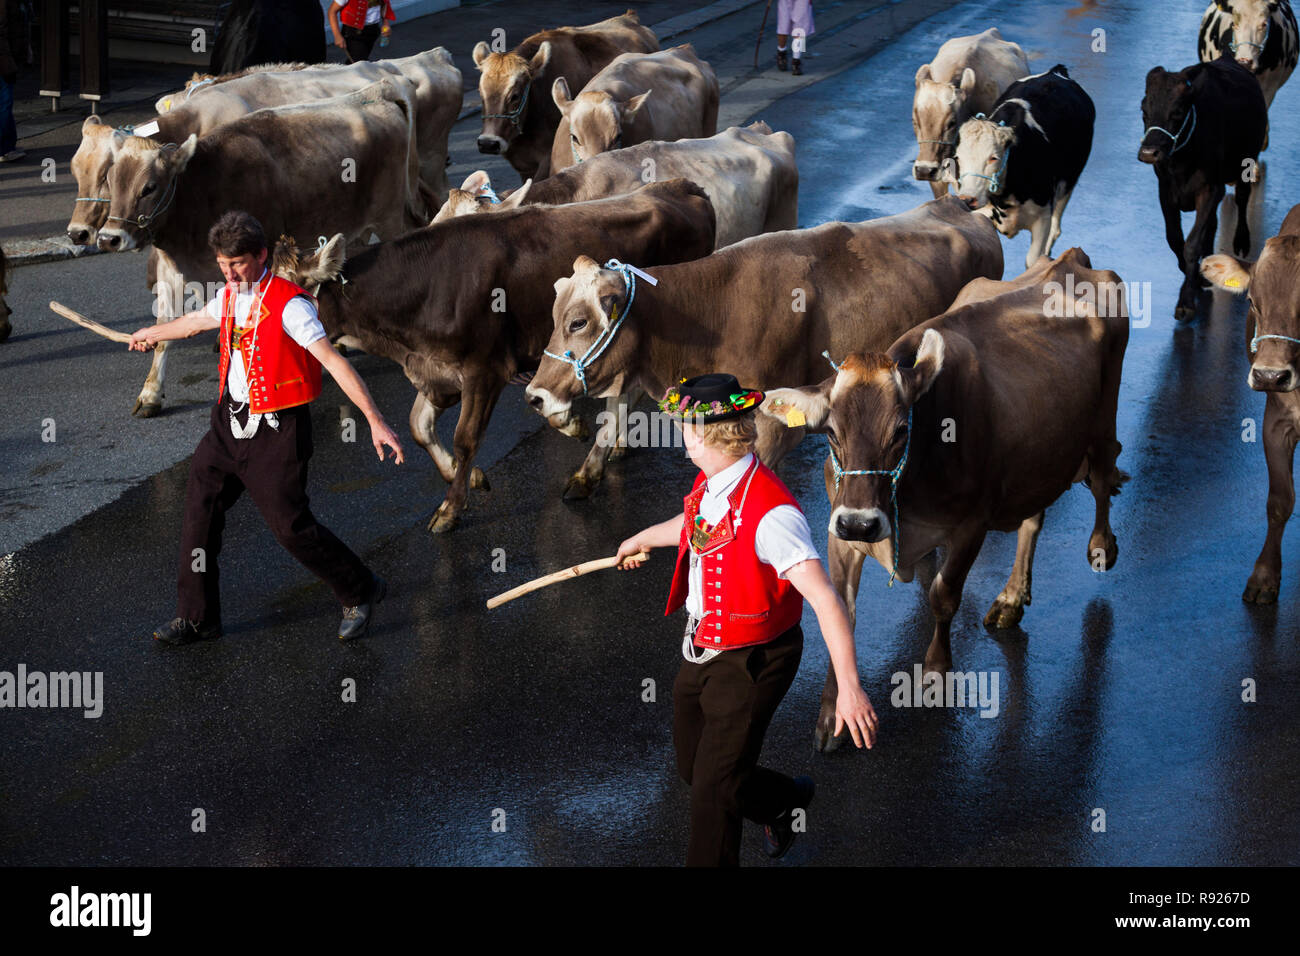
<svg viewBox="0 0 1300 956">
<path fill-rule="evenodd" d="M 754 455 L 754 412 L 762 392 L 734 376 L 702 375 L 659 402 L 681 423 L 699 475 L 682 512 L 619 545 L 620 567 L 634 555 L 676 545 L 668 594 L 689 618 L 685 658 L 672 688 L 677 770 L 690 784 L 688 866 L 736 866 L 742 819 L 764 826 L 763 849 L 784 856 L 796 810 L 812 780 L 758 766 L 763 734 L 794 680 L 803 652 L 803 600 L 816 611 L 840 685 L 836 734 L 871 747 L 876 714 L 858 680 L 849 618 L 822 567 L 794 496 Z"/>
</svg>

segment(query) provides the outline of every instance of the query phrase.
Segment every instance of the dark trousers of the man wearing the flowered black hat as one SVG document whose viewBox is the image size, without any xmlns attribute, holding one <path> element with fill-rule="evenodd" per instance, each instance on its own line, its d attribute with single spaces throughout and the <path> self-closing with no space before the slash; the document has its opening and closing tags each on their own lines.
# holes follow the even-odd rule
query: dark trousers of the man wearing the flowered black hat
<svg viewBox="0 0 1300 956">
<path fill-rule="evenodd" d="M 690 784 L 686 866 L 740 865 L 742 819 L 771 823 L 794 809 L 794 780 L 758 766 L 758 754 L 802 654 L 796 624 L 757 648 L 682 661 L 672 687 L 672 739 L 677 773 Z"/>
</svg>

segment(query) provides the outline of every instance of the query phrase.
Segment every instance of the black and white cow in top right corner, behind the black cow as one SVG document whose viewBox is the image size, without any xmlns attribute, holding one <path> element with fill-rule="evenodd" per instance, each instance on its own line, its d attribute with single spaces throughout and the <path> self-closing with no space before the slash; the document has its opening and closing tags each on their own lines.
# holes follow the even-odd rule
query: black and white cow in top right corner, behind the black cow
<svg viewBox="0 0 1300 956">
<path fill-rule="evenodd" d="M 1260 78 L 1264 103 L 1271 107 L 1300 57 L 1290 0 L 1216 0 L 1201 17 L 1197 52 L 1201 62 L 1235 57 Z"/>
</svg>

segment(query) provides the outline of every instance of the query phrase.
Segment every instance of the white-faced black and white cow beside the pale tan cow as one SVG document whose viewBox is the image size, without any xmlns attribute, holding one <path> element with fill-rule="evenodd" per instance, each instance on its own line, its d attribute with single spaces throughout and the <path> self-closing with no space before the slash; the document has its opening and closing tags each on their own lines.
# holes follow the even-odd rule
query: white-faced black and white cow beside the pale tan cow
<svg viewBox="0 0 1300 956">
<path fill-rule="evenodd" d="M 1034 237 L 1024 268 L 1052 255 L 1061 217 L 1092 151 L 1097 109 L 1057 64 L 1011 83 L 988 116 L 962 124 L 948 178 L 957 196 L 1004 235 Z"/>
</svg>

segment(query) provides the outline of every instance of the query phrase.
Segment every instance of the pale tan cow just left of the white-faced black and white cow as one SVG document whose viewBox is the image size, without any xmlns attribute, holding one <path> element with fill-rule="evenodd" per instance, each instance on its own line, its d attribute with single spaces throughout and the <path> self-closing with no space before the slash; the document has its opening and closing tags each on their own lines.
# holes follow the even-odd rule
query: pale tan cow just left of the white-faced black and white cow
<svg viewBox="0 0 1300 956">
<path fill-rule="evenodd" d="M 1019 44 L 1002 39 L 997 27 L 954 36 L 935 59 L 916 70 L 911 127 L 916 134 L 913 176 L 930 182 L 935 196 L 948 191 L 940 181 L 944 163 L 957 148 L 957 130 L 976 113 L 993 112 L 1002 91 L 1030 74 Z"/>
</svg>

